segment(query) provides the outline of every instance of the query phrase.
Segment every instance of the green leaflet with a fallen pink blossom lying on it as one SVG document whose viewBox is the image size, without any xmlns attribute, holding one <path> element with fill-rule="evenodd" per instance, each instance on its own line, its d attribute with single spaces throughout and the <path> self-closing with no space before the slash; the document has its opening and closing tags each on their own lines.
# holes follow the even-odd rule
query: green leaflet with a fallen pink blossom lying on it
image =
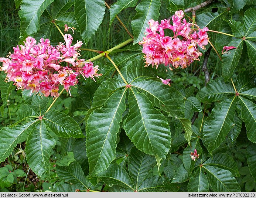
<svg viewBox="0 0 256 198">
<path fill-rule="evenodd" d="M 236 49 L 232 49 L 229 51 L 229 53 L 222 55 L 222 76 L 224 77 L 225 81 L 232 76 L 236 66 L 238 65 L 238 61 L 242 54 L 243 40 L 233 40 L 228 44 L 228 46 L 234 46 Z"/>
</svg>

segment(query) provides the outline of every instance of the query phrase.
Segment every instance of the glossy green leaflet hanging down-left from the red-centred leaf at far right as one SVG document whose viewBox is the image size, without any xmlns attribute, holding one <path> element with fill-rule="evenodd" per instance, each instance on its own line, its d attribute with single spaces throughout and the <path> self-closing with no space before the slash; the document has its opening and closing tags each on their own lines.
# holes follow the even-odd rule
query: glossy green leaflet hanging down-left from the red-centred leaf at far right
<svg viewBox="0 0 256 198">
<path fill-rule="evenodd" d="M 228 98 L 214 107 L 211 116 L 206 119 L 203 142 L 209 152 L 219 147 L 233 127 L 235 108 L 235 97 Z"/>
</svg>

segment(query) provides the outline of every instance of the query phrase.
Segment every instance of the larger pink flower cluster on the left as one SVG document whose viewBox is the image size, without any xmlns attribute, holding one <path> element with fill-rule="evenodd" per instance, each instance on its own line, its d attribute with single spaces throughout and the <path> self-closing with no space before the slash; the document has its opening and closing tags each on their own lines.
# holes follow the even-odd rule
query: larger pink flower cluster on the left
<svg viewBox="0 0 256 198">
<path fill-rule="evenodd" d="M 6 73 L 7 82 L 13 81 L 17 89 L 28 89 L 32 93 L 41 93 L 54 98 L 59 95 L 59 85 L 63 85 L 70 94 L 70 86 L 78 83 L 79 75 L 83 78 L 98 77 L 98 65 L 78 59 L 81 41 L 72 44 L 70 34 L 64 36 L 65 44 L 53 47 L 48 39 L 36 40 L 27 37 L 24 45 L 14 47 L 14 52 L 9 52 L 8 58 L 0 58 L 3 66 L 0 70 Z"/>
</svg>

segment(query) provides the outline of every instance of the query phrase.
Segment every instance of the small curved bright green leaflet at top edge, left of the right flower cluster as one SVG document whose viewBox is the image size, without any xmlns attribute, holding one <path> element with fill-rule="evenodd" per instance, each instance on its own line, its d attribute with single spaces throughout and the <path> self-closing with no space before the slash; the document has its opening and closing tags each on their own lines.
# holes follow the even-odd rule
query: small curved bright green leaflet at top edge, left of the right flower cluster
<svg viewBox="0 0 256 198">
<path fill-rule="evenodd" d="M 118 0 L 116 3 L 112 4 L 110 7 L 110 25 L 113 23 L 117 14 L 119 14 L 122 10 L 128 7 L 136 6 L 138 0 Z"/>
</svg>

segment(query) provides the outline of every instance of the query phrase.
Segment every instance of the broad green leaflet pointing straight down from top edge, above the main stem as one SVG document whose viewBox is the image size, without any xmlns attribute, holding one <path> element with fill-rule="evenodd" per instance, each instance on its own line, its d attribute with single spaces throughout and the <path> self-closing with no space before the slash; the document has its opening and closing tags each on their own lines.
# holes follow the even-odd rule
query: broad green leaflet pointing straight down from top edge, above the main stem
<svg viewBox="0 0 256 198">
<path fill-rule="evenodd" d="M 76 0 L 75 18 L 85 43 L 98 30 L 105 14 L 104 0 Z"/>
</svg>

